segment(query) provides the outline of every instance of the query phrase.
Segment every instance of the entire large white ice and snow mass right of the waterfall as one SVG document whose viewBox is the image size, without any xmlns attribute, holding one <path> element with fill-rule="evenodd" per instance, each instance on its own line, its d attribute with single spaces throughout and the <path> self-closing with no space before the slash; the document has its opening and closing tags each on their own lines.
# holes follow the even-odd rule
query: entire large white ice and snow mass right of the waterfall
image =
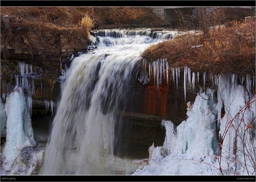
<svg viewBox="0 0 256 182">
<path fill-rule="evenodd" d="M 177 128 L 162 121 L 163 147 L 133 175 L 255 175 L 255 96 L 228 75 L 217 84 L 217 98 L 201 90 Z"/>
</svg>

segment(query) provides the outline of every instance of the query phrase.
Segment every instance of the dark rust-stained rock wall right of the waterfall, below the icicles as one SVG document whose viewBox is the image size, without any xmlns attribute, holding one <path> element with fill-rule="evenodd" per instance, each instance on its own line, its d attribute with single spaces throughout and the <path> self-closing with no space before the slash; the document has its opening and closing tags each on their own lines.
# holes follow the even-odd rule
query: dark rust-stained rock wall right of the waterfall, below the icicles
<svg viewBox="0 0 256 182">
<path fill-rule="evenodd" d="M 129 99 L 126 112 L 122 115 L 126 131 L 121 132 L 120 143 L 126 145 L 121 147 L 120 155 L 147 158 L 152 142 L 160 146 L 164 141 L 165 129 L 161 121 L 166 119 L 179 125 L 186 119 L 186 102 L 195 100 L 203 83 L 196 84 L 194 92 L 187 86 L 186 100 L 182 83 L 183 78 L 178 89 L 173 82 L 169 86 L 162 84 L 158 89 L 154 78 L 147 85 L 136 82 L 134 97 Z"/>
</svg>

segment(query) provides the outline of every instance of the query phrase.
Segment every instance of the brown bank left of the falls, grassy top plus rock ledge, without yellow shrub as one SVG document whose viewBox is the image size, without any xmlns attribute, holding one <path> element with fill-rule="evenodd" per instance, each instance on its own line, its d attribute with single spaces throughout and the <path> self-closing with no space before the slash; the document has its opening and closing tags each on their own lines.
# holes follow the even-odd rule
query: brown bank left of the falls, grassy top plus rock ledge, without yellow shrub
<svg viewBox="0 0 256 182">
<path fill-rule="evenodd" d="M 1 58 L 30 63 L 62 62 L 90 45 L 81 20 L 93 28 L 158 26 L 150 8 L 133 7 L 2 7 Z M 8 18 L 4 18 L 8 15 Z"/>
</svg>

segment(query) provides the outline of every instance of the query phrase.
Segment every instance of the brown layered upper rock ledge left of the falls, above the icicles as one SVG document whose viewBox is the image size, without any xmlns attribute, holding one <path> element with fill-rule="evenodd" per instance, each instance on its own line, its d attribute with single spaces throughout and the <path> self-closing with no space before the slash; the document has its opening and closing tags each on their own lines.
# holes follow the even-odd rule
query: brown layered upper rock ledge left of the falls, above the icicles
<svg viewBox="0 0 256 182">
<path fill-rule="evenodd" d="M 90 44 L 81 32 L 40 28 L 26 30 L 7 23 L 1 25 L 1 59 L 26 60 L 38 65 L 45 62 L 67 63 L 72 54 L 86 52 Z"/>
</svg>

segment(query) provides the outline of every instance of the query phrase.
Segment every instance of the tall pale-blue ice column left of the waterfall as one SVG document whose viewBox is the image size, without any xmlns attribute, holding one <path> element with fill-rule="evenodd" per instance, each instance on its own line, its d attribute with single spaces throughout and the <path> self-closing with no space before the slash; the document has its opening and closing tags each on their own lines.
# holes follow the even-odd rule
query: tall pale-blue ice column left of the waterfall
<svg viewBox="0 0 256 182">
<path fill-rule="evenodd" d="M 18 87 L 10 92 L 6 98 L 5 111 L 7 115 L 6 144 L 4 156 L 4 170 L 10 170 L 21 149 L 35 145 L 30 114 L 26 107 L 22 88 Z"/>
</svg>

